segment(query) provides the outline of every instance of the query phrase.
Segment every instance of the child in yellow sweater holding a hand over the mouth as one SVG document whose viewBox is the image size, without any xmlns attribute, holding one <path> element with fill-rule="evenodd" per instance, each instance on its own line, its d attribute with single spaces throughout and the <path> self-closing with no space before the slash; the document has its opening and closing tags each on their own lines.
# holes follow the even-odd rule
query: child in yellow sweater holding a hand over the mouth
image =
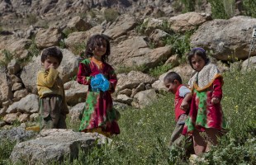
<svg viewBox="0 0 256 165">
<path fill-rule="evenodd" d="M 36 82 L 40 97 L 40 130 L 67 128 L 65 119 L 69 109 L 65 101 L 64 83 L 57 71 L 62 59 L 63 54 L 55 46 L 42 51 L 43 69 L 37 73 Z"/>
</svg>

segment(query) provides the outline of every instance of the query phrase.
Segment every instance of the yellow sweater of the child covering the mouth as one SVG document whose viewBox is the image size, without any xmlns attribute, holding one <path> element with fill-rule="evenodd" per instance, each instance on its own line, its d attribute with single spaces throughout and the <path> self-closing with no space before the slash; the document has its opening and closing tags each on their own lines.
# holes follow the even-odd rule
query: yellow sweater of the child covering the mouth
<svg viewBox="0 0 256 165">
<path fill-rule="evenodd" d="M 59 78 L 59 72 L 56 69 L 40 70 L 37 73 L 36 85 L 40 98 L 54 94 L 59 95 L 65 101 L 64 84 Z"/>
</svg>

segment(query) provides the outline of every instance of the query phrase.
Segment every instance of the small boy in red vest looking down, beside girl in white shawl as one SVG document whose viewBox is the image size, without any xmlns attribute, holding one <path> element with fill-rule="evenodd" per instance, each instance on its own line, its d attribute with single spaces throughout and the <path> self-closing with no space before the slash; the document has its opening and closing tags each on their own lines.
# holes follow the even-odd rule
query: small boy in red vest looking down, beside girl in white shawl
<svg viewBox="0 0 256 165">
<path fill-rule="evenodd" d="M 184 139 L 183 127 L 187 119 L 192 93 L 190 89 L 183 85 L 182 78 L 178 73 L 170 72 L 164 77 L 164 86 L 168 88 L 168 92 L 175 94 L 175 120 L 177 122 L 170 140 L 170 146 L 180 145 Z"/>
</svg>

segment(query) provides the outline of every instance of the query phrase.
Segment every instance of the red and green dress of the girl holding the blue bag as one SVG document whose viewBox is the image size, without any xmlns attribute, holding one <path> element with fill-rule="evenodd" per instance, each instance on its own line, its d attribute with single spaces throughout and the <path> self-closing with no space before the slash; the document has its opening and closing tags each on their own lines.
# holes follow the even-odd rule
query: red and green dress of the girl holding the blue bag
<svg viewBox="0 0 256 165">
<path fill-rule="evenodd" d="M 107 92 L 92 92 L 90 80 L 98 73 L 102 73 L 111 84 L 111 89 Z M 105 135 L 120 134 L 119 126 L 116 122 L 116 111 L 113 109 L 111 98 L 111 92 L 115 92 L 117 83 L 116 73 L 111 65 L 102 63 L 101 67 L 98 67 L 91 59 L 84 59 L 79 64 L 77 81 L 88 85 L 79 131 L 98 132 Z"/>
</svg>

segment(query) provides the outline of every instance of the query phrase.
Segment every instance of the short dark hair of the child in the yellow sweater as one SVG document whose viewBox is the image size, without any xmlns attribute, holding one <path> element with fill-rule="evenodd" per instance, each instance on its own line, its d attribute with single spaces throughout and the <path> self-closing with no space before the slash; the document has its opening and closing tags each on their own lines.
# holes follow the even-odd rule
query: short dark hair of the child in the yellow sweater
<svg viewBox="0 0 256 165">
<path fill-rule="evenodd" d="M 61 63 L 63 58 L 62 52 L 56 46 L 45 48 L 45 50 L 42 51 L 41 62 L 44 63 L 45 59 L 47 59 L 48 56 L 58 59 L 59 64 Z"/>
</svg>

